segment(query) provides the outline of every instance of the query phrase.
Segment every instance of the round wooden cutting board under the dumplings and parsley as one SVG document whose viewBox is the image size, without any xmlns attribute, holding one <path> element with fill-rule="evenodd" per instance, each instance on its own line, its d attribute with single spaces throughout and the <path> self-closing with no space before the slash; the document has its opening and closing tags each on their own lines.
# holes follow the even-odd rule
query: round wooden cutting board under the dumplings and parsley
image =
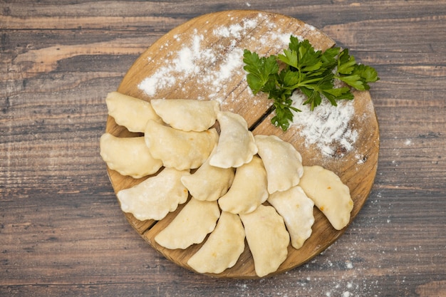
<svg viewBox="0 0 446 297">
<path fill-rule="evenodd" d="M 313 26 L 297 19 L 260 11 L 222 11 L 199 16 L 178 26 L 152 44 L 135 61 L 123 78 L 118 92 L 142 100 L 152 98 L 185 98 L 219 100 L 222 110 L 242 115 L 253 133 L 277 135 L 291 142 L 302 155 L 304 165 L 321 165 L 336 172 L 347 184 L 354 202 L 351 221 L 363 207 L 375 179 L 378 165 L 379 130 L 373 103 L 368 92 L 356 92 L 353 100 L 354 116 L 348 123 L 358 133 L 353 150 L 338 146 L 330 156 L 323 155 L 316 145 L 305 144 L 299 127 L 283 132 L 271 125 L 267 110 L 271 105 L 266 95 L 252 95 L 243 70 L 245 48 L 260 56 L 281 53 L 288 47 L 290 35 L 306 38 L 316 49 L 325 50 L 334 41 Z M 108 117 L 106 132 L 119 137 L 135 136 L 125 127 L 116 125 Z M 336 144 L 334 144 L 336 145 Z M 132 187 L 142 180 L 108 170 L 115 192 Z M 183 204 L 184 205 L 184 204 Z M 187 260 L 202 244 L 182 249 L 165 249 L 153 240 L 169 224 L 182 206 L 160 222 L 135 219 L 125 214 L 128 222 L 154 249 L 176 264 L 192 270 Z M 304 246 L 296 250 L 289 246 L 289 254 L 279 269 L 283 273 L 304 264 L 333 244 L 345 231 L 333 229 L 326 217 L 314 208 L 313 233 Z M 331 255 L 336 257 L 335 254 Z M 257 278 L 254 261 L 246 244 L 237 264 L 219 274 L 227 278 Z"/>
</svg>

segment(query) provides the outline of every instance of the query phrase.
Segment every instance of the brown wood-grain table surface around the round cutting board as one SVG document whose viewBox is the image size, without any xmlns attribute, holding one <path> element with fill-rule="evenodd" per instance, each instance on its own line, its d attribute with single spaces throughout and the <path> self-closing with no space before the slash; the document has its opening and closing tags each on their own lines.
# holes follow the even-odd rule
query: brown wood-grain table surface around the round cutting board
<svg viewBox="0 0 446 297">
<path fill-rule="evenodd" d="M 120 211 L 105 95 L 195 16 L 301 19 L 377 69 L 378 174 L 346 233 L 260 280 L 176 266 Z M 1 1 L 0 296 L 446 296 L 446 1 Z"/>
</svg>

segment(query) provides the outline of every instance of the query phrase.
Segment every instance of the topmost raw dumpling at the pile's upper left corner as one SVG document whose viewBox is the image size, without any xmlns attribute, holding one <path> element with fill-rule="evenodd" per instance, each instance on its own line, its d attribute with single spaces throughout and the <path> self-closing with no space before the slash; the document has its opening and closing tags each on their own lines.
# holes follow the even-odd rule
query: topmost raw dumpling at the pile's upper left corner
<svg viewBox="0 0 446 297">
<path fill-rule="evenodd" d="M 105 98 L 105 103 L 108 115 L 130 132 L 144 132 L 147 120 L 161 120 L 150 103 L 132 96 L 110 92 Z"/>
</svg>

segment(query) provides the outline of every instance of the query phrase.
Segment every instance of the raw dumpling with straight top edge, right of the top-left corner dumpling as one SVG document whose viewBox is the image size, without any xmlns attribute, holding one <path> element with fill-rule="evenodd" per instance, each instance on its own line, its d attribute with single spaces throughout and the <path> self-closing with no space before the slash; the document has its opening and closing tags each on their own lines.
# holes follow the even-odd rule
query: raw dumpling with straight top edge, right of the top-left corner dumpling
<svg viewBox="0 0 446 297">
<path fill-rule="evenodd" d="M 164 123 L 183 131 L 204 131 L 214 125 L 220 104 L 215 100 L 152 99 Z"/>
</svg>

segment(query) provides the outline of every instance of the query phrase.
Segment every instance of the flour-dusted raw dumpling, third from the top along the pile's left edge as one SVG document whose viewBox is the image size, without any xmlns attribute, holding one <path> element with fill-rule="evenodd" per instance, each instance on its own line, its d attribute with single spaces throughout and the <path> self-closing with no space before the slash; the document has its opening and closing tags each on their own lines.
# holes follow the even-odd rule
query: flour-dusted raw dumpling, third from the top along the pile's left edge
<svg viewBox="0 0 446 297">
<path fill-rule="evenodd" d="M 186 202 L 188 192 L 180 179 L 187 174 L 190 174 L 187 170 L 165 168 L 134 187 L 120 190 L 116 196 L 121 209 L 140 221 L 163 219 L 177 209 L 178 204 Z"/>
</svg>

